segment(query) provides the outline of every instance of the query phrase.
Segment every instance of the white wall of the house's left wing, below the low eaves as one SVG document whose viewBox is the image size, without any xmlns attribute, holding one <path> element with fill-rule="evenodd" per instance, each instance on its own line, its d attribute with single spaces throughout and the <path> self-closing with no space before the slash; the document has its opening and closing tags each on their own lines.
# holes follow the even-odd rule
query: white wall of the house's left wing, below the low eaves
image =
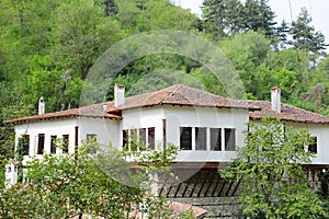
<svg viewBox="0 0 329 219">
<path fill-rule="evenodd" d="M 63 118 L 53 120 L 41 120 L 34 123 L 19 124 L 15 126 L 15 142 L 22 135 L 30 135 L 30 157 L 41 157 L 37 154 L 38 134 L 45 135 L 44 151 L 50 153 L 50 137 L 69 135 L 69 153 L 75 152 L 76 127 L 78 127 L 78 146 L 87 138 L 87 134 L 95 134 L 98 142 L 118 145 L 118 122 L 102 118 Z M 61 153 L 56 149 L 56 153 Z M 27 159 L 27 158 L 25 158 Z"/>
</svg>

